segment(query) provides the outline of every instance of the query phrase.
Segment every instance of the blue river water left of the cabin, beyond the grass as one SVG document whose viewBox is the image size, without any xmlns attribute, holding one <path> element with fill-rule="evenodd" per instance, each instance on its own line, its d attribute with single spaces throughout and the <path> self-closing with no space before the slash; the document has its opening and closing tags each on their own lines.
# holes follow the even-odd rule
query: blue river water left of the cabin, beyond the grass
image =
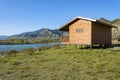
<svg viewBox="0 0 120 80">
<path fill-rule="evenodd" d="M 19 45 L 0 45 L 1 51 L 9 51 L 9 50 L 22 50 L 25 48 L 39 48 L 42 46 L 53 46 L 60 43 L 47 43 L 47 44 L 19 44 Z"/>
</svg>

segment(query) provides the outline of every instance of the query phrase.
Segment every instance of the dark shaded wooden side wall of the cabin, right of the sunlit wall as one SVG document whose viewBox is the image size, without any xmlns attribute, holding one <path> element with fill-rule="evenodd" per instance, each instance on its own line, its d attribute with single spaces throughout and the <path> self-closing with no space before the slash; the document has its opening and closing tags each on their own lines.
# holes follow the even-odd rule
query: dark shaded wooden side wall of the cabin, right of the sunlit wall
<svg viewBox="0 0 120 80">
<path fill-rule="evenodd" d="M 111 44 L 111 28 L 93 22 L 92 44 Z"/>
</svg>

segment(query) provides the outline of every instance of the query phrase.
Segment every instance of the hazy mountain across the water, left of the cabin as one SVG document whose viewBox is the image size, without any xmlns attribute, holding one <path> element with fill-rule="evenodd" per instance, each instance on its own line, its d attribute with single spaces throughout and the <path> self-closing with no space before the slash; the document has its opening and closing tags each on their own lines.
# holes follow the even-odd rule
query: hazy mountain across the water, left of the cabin
<svg viewBox="0 0 120 80">
<path fill-rule="evenodd" d="M 61 32 L 58 30 L 51 30 L 43 28 L 37 31 L 25 32 L 17 35 L 10 36 L 8 39 L 47 39 L 55 40 L 60 39 Z"/>
</svg>

